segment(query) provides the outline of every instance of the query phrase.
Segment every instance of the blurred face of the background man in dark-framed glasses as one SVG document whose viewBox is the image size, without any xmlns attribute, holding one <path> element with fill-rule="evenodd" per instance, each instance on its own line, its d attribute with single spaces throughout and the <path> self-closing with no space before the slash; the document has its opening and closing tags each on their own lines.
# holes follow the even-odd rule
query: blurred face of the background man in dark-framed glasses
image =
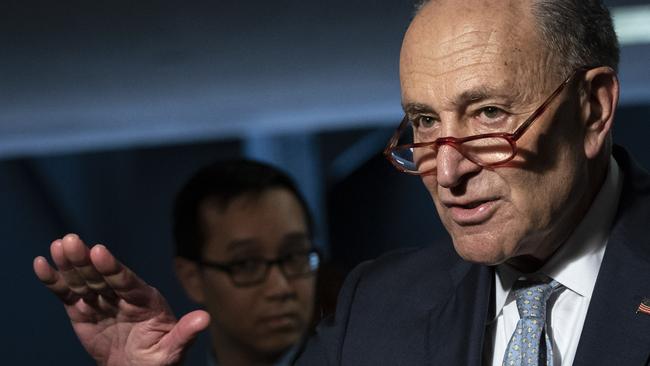
<svg viewBox="0 0 650 366">
<path fill-rule="evenodd" d="M 207 238 L 205 260 L 275 259 L 311 248 L 302 208 L 284 189 L 238 197 L 225 210 L 204 202 L 201 216 Z M 203 277 L 213 336 L 226 344 L 277 356 L 307 329 L 314 276 L 288 280 L 273 266 L 267 280 L 252 287 L 236 287 L 221 271 L 206 269 Z"/>
</svg>

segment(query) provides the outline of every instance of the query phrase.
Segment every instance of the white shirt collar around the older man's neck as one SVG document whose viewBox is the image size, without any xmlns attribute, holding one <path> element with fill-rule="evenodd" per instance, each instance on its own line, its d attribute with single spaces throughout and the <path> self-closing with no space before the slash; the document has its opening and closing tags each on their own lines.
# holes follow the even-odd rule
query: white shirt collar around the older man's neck
<svg viewBox="0 0 650 366">
<path fill-rule="evenodd" d="M 541 268 L 540 272 L 583 297 L 591 297 L 603 261 L 609 230 L 614 222 L 621 194 L 622 177 L 616 160 L 610 157 L 607 176 L 587 214 L 569 239 Z M 495 271 L 495 318 L 508 300 L 510 289 L 521 273 L 507 264 Z"/>
</svg>

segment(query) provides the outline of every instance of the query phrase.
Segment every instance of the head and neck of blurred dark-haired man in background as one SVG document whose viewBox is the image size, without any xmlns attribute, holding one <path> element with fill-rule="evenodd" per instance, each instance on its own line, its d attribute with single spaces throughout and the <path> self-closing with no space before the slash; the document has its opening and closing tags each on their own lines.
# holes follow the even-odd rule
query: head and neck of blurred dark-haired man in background
<svg viewBox="0 0 650 366">
<path fill-rule="evenodd" d="M 293 181 L 237 160 L 201 169 L 174 205 L 175 268 L 211 317 L 219 365 L 286 365 L 310 324 L 319 257 Z"/>
</svg>

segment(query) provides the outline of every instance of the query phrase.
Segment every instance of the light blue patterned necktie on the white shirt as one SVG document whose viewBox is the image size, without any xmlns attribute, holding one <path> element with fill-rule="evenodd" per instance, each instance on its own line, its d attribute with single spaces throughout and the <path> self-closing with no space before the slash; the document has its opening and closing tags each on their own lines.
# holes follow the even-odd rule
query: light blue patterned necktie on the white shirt
<svg viewBox="0 0 650 366">
<path fill-rule="evenodd" d="M 508 342 L 503 366 L 553 366 L 553 343 L 545 332 L 546 302 L 558 286 L 555 280 L 515 284 L 519 321 Z"/>
</svg>

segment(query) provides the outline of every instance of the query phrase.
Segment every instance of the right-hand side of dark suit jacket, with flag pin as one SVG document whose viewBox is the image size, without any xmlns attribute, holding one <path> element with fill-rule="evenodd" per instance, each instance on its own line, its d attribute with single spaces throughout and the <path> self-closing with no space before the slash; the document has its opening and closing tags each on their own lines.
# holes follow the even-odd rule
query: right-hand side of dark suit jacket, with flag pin
<svg viewBox="0 0 650 366">
<path fill-rule="evenodd" d="M 647 365 L 650 315 L 638 312 L 650 297 L 650 179 L 627 154 L 619 212 L 589 303 L 574 365 Z M 620 155 L 624 155 L 621 156 Z"/>
</svg>

